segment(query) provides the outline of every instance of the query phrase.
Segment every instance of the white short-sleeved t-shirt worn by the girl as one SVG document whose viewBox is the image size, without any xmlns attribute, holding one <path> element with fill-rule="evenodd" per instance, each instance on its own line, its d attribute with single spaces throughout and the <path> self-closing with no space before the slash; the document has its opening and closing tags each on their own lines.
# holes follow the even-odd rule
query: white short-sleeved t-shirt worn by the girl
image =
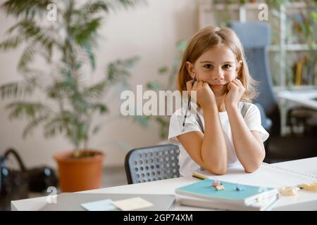
<svg viewBox="0 0 317 225">
<path fill-rule="evenodd" d="M 244 122 L 246 122 L 247 127 L 249 127 L 250 131 L 259 131 L 262 141 L 266 141 L 266 139 L 268 139 L 268 132 L 261 125 L 261 113 L 259 111 L 259 108 L 257 108 L 256 105 L 252 103 L 240 101 L 240 112 L 244 104 L 245 107 L 247 107 L 247 111 L 244 115 Z M 178 145 L 180 148 L 180 155 L 178 159 L 180 164 L 180 175 L 192 176 L 192 173 L 199 172 L 201 167 L 196 162 L 194 162 L 194 160 L 192 160 L 192 158 L 188 155 L 185 148 L 182 146 L 180 141 L 178 141 L 177 136 L 180 134 L 186 134 L 191 131 L 201 131 L 201 129 L 199 127 L 199 122 L 197 120 L 196 111 L 193 110 L 192 106 L 192 110 L 188 110 L 187 112 L 185 128 L 182 130 L 182 123 L 184 121 L 186 108 L 187 104 L 183 104 L 183 107 L 176 110 L 175 113 L 173 113 L 173 115 L 170 117 L 168 141 L 170 143 Z M 197 114 L 200 116 L 203 127 L 205 127 L 203 111 L 198 110 Z M 228 167 L 240 164 L 237 155 L 235 154 L 235 148 L 232 142 L 232 134 L 228 119 L 228 113 L 220 112 L 219 117 L 225 134 L 225 141 L 227 141 L 228 146 Z"/>
</svg>

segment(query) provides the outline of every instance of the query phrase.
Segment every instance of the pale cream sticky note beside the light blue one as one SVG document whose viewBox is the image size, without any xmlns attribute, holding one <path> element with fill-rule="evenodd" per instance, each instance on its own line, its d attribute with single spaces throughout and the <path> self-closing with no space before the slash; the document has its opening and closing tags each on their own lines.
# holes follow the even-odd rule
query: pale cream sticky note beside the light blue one
<svg viewBox="0 0 317 225">
<path fill-rule="evenodd" d="M 112 204 L 116 205 L 116 207 L 118 207 L 120 210 L 123 210 L 123 211 L 139 210 L 139 209 L 153 206 L 152 203 L 139 197 L 114 201 Z"/>
</svg>

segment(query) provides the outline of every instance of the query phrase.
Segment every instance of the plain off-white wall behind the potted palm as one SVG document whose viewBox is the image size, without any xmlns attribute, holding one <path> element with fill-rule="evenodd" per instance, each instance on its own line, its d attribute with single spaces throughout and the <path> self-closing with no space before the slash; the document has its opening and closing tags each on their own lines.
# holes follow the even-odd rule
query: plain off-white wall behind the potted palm
<svg viewBox="0 0 317 225">
<path fill-rule="evenodd" d="M 0 0 L 3 3 L 4 0 Z M 132 72 L 131 86 L 145 84 L 149 80 L 161 79 L 157 73 L 163 65 L 171 65 L 175 56 L 175 43 L 179 39 L 189 39 L 198 29 L 197 1 L 193 0 L 148 0 L 147 5 L 135 9 L 124 9 L 111 13 L 101 30 L 97 52 L 97 70 L 92 79 L 104 75 L 106 63 L 116 58 L 139 56 L 137 67 Z M 0 14 L 0 40 L 4 40 L 4 32 L 13 25 L 12 18 Z M 0 53 L 0 84 L 21 79 L 16 70 L 22 49 Z M 38 65 L 39 68 L 41 65 Z M 103 127 L 90 141 L 90 148 L 103 150 L 106 153 L 105 166 L 123 165 L 125 151 L 116 141 L 124 141 L 137 148 L 156 145 L 160 139 L 156 126 L 147 130 L 132 122 L 131 118 L 113 120 L 120 110 L 120 104 L 111 94 L 106 98 L 111 106 L 111 114 L 100 118 L 100 122 L 111 121 Z M 37 129 L 32 136 L 22 139 L 22 131 L 26 122 L 8 120 L 5 105 L 0 102 L 0 154 L 9 146 L 19 150 L 27 167 L 50 165 L 56 167 L 52 155 L 62 150 L 70 150 L 72 146 L 63 137 L 44 139 L 42 129 Z"/>
</svg>

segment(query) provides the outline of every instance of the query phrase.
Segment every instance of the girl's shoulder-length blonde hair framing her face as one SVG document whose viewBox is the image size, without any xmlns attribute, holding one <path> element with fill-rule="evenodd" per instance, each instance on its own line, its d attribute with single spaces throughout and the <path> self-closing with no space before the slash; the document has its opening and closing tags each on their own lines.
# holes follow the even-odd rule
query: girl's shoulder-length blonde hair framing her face
<svg viewBox="0 0 317 225">
<path fill-rule="evenodd" d="M 228 47 L 235 54 L 237 62 L 242 61 L 241 68 L 237 75 L 237 79 L 240 79 L 245 88 L 241 101 L 251 102 L 252 99 L 257 96 L 254 87 L 256 81 L 249 75 L 249 69 L 247 61 L 244 58 L 244 50 L 240 39 L 229 27 L 219 28 L 207 26 L 199 30 L 194 34 L 194 37 L 189 40 L 182 55 L 180 69 L 178 70 L 178 90 L 181 92 L 187 91 L 186 82 L 192 80 L 192 77 L 190 77 L 187 71 L 186 62 L 189 61 L 194 64 L 202 54 L 218 44 L 223 44 Z M 239 65 L 237 64 L 237 66 Z"/>
</svg>

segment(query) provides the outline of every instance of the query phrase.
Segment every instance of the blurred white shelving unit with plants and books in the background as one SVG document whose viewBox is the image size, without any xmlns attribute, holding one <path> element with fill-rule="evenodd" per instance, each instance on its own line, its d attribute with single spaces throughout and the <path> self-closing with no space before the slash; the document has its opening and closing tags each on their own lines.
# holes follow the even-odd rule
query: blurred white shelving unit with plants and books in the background
<svg viewBox="0 0 317 225">
<path fill-rule="evenodd" d="M 294 1 L 292 3 L 278 5 L 277 3 L 267 4 L 266 1 L 250 1 L 240 4 L 240 1 L 201 0 L 199 4 L 199 27 L 206 25 L 228 25 L 232 20 L 240 22 L 259 22 L 259 12 L 263 4 L 268 8 L 268 20 L 271 26 L 270 54 L 271 75 L 276 90 L 292 89 L 316 89 L 317 81 L 313 84 L 294 85 L 296 75 L 292 67 L 303 57 L 308 57 L 316 64 L 317 45 L 316 29 L 313 29 L 311 18 L 315 11 L 313 1 Z M 245 1 L 244 1 L 245 2 Z M 309 27 L 310 26 L 310 27 Z M 307 30 L 305 30 L 307 29 Z M 309 37 L 307 37 L 307 32 Z M 316 67 L 316 65 L 315 65 Z M 315 73 L 316 73 L 315 68 Z M 313 75 L 316 77 L 316 74 Z"/>
</svg>

